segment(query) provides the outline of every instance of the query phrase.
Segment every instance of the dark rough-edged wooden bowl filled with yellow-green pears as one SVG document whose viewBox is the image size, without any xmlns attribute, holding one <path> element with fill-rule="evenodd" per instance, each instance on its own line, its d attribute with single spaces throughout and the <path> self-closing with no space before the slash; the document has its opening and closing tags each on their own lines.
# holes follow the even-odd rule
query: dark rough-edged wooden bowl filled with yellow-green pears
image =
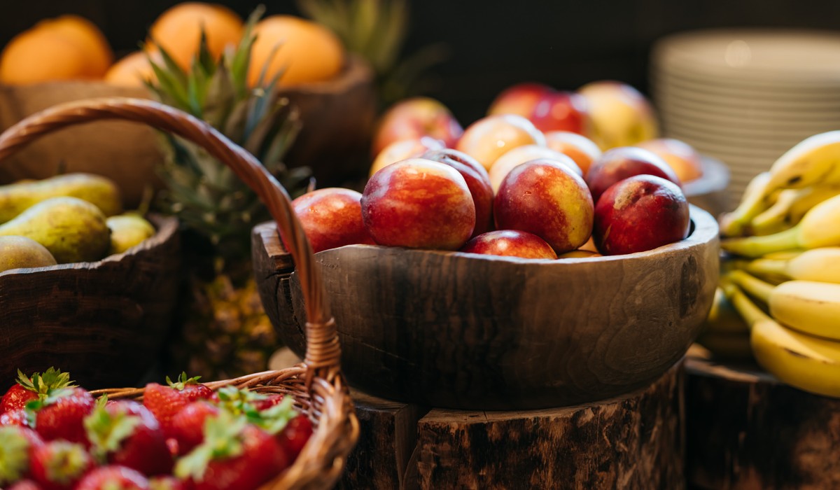
<svg viewBox="0 0 840 490">
<path fill-rule="evenodd" d="M 0 379 L 61 366 L 85 386 L 141 381 L 176 304 L 177 228 L 123 212 L 106 177 L 0 187 Z"/>
</svg>

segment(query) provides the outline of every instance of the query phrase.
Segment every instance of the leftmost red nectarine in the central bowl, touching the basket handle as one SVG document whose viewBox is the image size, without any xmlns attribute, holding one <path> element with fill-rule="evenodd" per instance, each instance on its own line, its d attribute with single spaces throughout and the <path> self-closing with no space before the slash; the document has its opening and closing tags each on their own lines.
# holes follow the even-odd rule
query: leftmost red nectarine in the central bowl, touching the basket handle
<svg viewBox="0 0 840 490">
<path fill-rule="evenodd" d="M 361 198 L 360 192 L 351 189 L 326 187 L 291 202 L 313 251 L 374 244 L 362 223 Z"/>
</svg>

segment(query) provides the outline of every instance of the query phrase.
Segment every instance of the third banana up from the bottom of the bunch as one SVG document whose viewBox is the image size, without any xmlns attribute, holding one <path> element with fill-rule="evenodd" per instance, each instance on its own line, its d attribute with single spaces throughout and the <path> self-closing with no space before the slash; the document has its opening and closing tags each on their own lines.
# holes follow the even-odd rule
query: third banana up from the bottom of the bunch
<svg viewBox="0 0 840 490">
<path fill-rule="evenodd" d="M 759 275 L 778 275 L 802 281 L 840 284 L 840 247 L 806 250 L 789 259 L 766 256 L 743 264 L 743 269 Z"/>
</svg>

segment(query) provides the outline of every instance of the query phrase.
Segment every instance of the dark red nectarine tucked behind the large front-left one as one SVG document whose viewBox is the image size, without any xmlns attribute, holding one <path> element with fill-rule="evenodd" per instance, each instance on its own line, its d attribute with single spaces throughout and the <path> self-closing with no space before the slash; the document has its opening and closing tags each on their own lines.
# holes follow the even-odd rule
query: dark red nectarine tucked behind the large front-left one
<svg viewBox="0 0 840 490">
<path fill-rule="evenodd" d="M 484 166 L 470 155 L 451 148 L 430 150 L 421 158 L 451 166 L 464 177 L 475 203 L 475 229 L 472 236 L 493 229 L 493 189 Z"/>
</svg>

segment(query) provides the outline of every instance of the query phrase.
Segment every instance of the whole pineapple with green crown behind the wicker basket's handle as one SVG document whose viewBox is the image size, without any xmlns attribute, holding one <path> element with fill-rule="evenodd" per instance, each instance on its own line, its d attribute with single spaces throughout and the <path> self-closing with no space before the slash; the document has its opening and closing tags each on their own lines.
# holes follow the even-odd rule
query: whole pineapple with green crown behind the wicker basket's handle
<svg viewBox="0 0 840 490">
<path fill-rule="evenodd" d="M 292 196 L 309 181 L 306 168 L 286 169 L 281 159 L 300 129 L 296 110 L 278 98 L 275 80 L 246 82 L 255 12 L 234 52 L 214 60 L 205 39 L 190 71 L 162 51 L 148 82 L 160 102 L 204 119 L 257 157 Z M 264 76 L 265 77 L 265 76 Z M 264 78 L 263 77 L 263 78 Z M 157 207 L 177 216 L 184 231 L 188 275 L 181 338 L 173 342 L 172 371 L 186 369 L 205 379 L 264 371 L 278 347 L 275 330 L 257 293 L 250 259 L 250 231 L 270 219 L 265 207 L 228 166 L 207 151 L 171 134 L 165 138 L 160 177 L 165 190 Z"/>
</svg>

